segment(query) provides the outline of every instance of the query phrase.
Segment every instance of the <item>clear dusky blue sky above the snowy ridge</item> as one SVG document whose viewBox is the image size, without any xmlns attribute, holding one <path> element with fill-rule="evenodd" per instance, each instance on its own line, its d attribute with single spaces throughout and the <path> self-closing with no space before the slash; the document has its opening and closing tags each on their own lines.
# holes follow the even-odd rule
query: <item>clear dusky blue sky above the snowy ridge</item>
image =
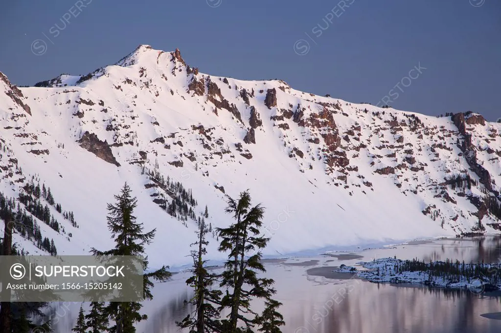
<svg viewBox="0 0 501 333">
<path fill-rule="evenodd" d="M 86 74 L 150 44 L 178 47 L 212 75 L 373 104 L 394 89 L 395 108 L 501 117 L 500 0 L 2 1 L 0 31 L 0 71 L 18 85 Z"/>
</svg>

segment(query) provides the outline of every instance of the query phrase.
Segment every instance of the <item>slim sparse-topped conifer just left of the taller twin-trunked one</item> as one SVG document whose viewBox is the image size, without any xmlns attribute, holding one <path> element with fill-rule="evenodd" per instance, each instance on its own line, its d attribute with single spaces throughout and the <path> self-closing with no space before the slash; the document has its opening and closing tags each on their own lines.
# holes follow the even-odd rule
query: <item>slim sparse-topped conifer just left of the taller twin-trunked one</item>
<svg viewBox="0 0 501 333">
<path fill-rule="evenodd" d="M 204 223 L 198 228 L 198 241 L 191 245 L 198 245 L 197 250 L 191 251 L 193 257 L 193 275 L 186 280 L 186 284 L 193 287 L 194 296 L 186 303 L 193 305 L 195 310 L 189 313 L 181 322 L 177 322 L 180 328 L 189 328 L 190 332 L 206 333 L 220 332 L 221 322 L 219 321 L 219 311 L 214 307 L 220 304 L 222 292 L 218 289 L 211 289 L 217 279 L 217 275 L 210 274 L 204 264 L 203 256 L 207 253 L 205 246 L 208 241 L 205 235 L 208 230 Z"/>
</svg>

